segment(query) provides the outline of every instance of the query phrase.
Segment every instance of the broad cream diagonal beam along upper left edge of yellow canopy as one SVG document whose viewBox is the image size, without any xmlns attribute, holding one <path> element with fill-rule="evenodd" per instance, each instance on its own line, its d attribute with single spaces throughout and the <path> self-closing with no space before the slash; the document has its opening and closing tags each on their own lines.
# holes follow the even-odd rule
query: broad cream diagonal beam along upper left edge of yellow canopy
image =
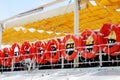
<svg viewBox="0 0 120 80">
<path fill-rule="evenodd" d="M 69 8 L 67 8 L 67 11 L 65 11 L 67 6 L 62 6 L 53 10 L 49 10 L 49 11 L 45 11 L 45 12 L 41 12 L 38 14 L 34 14 L 31 16 L 27 16 L 27 17 L 23 17 L 20 19 L 16 19 L 10 22 L 6 23 L 6 28 L 10 28 L 10 27 L 17 27 L 17 26 L 21 26 L 24 24 L 28 24 L 28 23 L 32 23 L 38 20 L 43 20 L 43 19 L 47 19 L 53 16 L 58 16 L 58 15 L 63 15 L 65 13 L 69 13 L 72 12 L 74 10 L 74 4 L 69 4 Z"/>
</svg>

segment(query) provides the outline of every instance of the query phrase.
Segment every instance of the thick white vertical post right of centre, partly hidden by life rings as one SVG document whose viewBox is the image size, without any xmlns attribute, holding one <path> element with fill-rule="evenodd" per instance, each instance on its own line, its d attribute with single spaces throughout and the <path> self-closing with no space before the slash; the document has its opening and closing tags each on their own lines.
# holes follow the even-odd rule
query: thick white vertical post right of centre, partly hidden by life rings
<svg viewBox="0 0 120 80">
<path fill-rule="evenodd" d="M 74 0 L 74 34 L 78 36 L 79 33 L 79 0 Z M 74 67 L 78 67 L 79 57 L 74 59 Z"/>
</svg>

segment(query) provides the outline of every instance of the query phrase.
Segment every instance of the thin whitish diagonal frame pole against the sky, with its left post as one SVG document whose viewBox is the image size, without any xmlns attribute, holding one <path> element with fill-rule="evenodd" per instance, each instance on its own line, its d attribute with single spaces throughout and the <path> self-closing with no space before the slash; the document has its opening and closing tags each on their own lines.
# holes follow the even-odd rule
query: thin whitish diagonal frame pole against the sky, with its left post
<svg viewBox="0 0 120 80">
<path fill-rule="evenodd" d="M 2 29 L 4 28 L 3 24 L 5 24 L 8 21 L 17 19 L 17 18 L 28 16 L 28 15 L 31 15 L 31 14 L 36 13 L 36 12 L 40 12 L 44 8 L 47 8 L 47 7 L 52 6 L 54 4 L 58 4 L 58 3 L 63 2 L 63 1 L 65 1 L 65 0 L 54 0 L 52 2 L 49 2 L 49 3 L 44 4 L 44 5 L 41 5 L 41 6 L 37 7 L 37 8 L 32 9 L 32 10 L 25 11 L 23 13 L 19 13 L 17 15 L 14 15 L 14 16 L 10 17 L 10 18 L 7 18 L 5 20 L 0 21 L 0 46 L 1 46 L 1 43 L 2 43 Z"/>
</svg>

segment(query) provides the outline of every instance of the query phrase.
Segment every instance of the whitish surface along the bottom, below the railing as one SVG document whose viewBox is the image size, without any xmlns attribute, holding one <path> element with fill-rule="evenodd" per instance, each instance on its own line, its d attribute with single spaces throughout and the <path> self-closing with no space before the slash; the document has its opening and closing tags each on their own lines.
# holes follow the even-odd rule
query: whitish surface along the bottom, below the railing
<svg viewBox="0 0 120 80">
<path fill-rule="evenodd" d="M 120 80 L 119 67 L 4 72 L 0 80 Z"/>
</svg>

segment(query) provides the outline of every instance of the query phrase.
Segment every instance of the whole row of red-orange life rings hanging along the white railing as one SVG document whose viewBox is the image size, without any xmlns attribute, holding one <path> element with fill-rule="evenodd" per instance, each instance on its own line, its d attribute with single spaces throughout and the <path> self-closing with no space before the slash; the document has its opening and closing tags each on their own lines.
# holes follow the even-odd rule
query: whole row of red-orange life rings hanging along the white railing
<svg viewBox="0 0 120 80">
<path fill-rule="evenodd" d="M 108 47 L 108 36 L 111 31 L 116 34 L 116 43 L 112 47 Z M 86 50 L 86 40 L 88 36 L 93 38 L 92 51 Z M 74 41 L 74 51 L 71 55 L 66 53 L 66 44 L 69 39 Z M 99 49 L 106 54 L 116 56 L 115 52 L 120 51 L 120 28 L 119 25 L 106 23 L 100 31 L 85 30 L 80 36 L 68 34 L 63 39 L 51 39 L 47 42 L 37 41 L 35 43 L 24 42 L 21 46 L 14 43 L 11 48 L 0 50 L 0 64 L 3 66 L 11 66 L 11 62 L 15 63 L 27 58 L 34 59 L 36 63 L 45 64 L 47 61 L 56 63 L 63 56 L 66 60 L 73 60 L 78 53 L 84 58 L 90 59 L 96 57 Z M 15 48 L 18 51 L 15 51 Z M 55 47 L 55 48 L 53 48 Z"/>
</svg>

